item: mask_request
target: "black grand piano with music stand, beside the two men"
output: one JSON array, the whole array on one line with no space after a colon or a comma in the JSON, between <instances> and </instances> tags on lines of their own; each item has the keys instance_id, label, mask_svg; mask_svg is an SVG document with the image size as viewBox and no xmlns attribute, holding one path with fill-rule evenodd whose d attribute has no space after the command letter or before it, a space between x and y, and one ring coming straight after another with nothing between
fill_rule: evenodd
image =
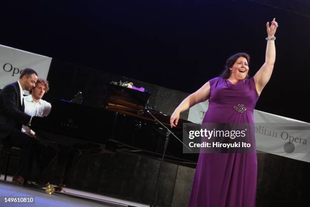
<instances>
[{"instance_id":1,"label":"black grand piano with music stand, beside the two men","mask_svg":"<svg viewBox=\"0 0 310 207\"><path fill-rule=\"evenodd\" d=\"M49 116L33 117L31 128L44 139L87 152L130 153L160 159L166 129L146 112L149 96L148 92L110 84L101 108L54 99ZM170 116L148 111L170 128ZM182 124L188 122L180 119L172 129L180 140ZM165 161L196 167L198 154L183 154L182 150L182 144L170 135Z\"/></svg>"}]
</instances>

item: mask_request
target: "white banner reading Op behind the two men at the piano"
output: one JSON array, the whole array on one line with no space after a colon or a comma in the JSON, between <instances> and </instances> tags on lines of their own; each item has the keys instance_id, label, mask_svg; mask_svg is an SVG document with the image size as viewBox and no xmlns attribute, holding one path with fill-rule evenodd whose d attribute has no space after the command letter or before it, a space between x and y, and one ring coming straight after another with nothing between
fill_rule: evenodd
<instances>
[{"instance_id":1,"label":"white banner reading Op behind the two men at the piano","mask_svg":"<svg viewBox=\"0 0 310 207\"><path fill-rule=\"evenodd\" d=\"M0 45L0 89L18 80L26 67L46 79L52 58Z\"/></svg>"}]
</instances>

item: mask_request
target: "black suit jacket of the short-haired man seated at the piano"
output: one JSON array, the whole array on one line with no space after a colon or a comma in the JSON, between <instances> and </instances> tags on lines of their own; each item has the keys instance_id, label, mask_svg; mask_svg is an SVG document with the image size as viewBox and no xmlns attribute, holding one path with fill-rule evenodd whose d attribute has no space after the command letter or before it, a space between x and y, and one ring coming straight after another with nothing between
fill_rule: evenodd
<instances>
[{"instance_id":1,"label":"black suit jacket of the short-haired man seated at the piano","mask_svg":"<svg viewBox=\"0 0 310 207\"><path fill-rule=\"evenodd\" d=\"M22 124L28 125L30 119L21 104L18 82L6 85L0 91L0 142L12 130L21 130Z\"/></svg>"}]
</instances>

